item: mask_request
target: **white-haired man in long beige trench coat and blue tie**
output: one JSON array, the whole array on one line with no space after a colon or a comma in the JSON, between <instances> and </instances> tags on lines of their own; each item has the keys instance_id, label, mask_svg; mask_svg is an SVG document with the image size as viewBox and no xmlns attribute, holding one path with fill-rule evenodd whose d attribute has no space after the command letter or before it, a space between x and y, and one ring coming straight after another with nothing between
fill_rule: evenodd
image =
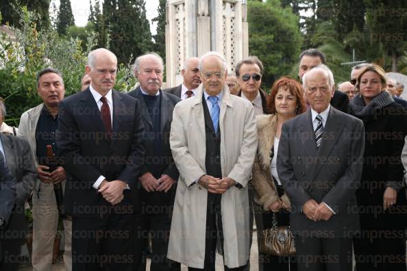
<instances>
[{"instance_id":1,"label":"white-haired man in long beige trench coat and blue tie","mask_svg":"<svg viewBox=\"0 0 407 271\"><path fill-rule=\"evenodd\" d=\"M199 60L202 83L173 111L170 144L180 171L168 258L188 270L214 270L217 242L225 270L249 259L247 182L257 147L254 108L231 95L222 55Z\"/></svg>"}]
</instances>

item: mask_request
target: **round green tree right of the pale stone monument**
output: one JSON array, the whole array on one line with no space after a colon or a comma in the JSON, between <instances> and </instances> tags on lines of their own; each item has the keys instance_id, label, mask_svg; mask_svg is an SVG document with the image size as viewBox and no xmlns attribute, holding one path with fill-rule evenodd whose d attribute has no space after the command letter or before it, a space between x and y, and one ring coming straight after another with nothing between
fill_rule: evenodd
<instances>
[{"instance_id":1,"label":"round green tree right of the pale stone monument","mask_svg":"<svg viewBox=\"0 0 407 271\"><path fill-rule=\"evenodd\" d=\"M291 8L282 8L277 0L249 1L247 8L249 54L262 61L262 88L269 90L297 62L301 46L298 16Z\"/></svg>"}]
</instances>

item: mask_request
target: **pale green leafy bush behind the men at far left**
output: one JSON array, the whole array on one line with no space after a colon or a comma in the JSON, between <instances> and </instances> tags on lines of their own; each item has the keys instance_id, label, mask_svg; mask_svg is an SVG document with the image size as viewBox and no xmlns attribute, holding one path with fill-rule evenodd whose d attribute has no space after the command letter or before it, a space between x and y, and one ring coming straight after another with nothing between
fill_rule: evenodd
<instances>
[{"instance_id":1,"label":"pale green leafy bush behind the men at far left","mask_svg":"<svg viewBox=\"0 0 407 271\"><path fill-rule=\"evenodd\" d=\"M36 74L42 68L52 66L62 72L65 96L80 89L80 79L84 73L86 58L95 47L95 34L86 38L86 49L82 49L79 39L60 36L55 29L36 30L36 16L27 8L18 10L21 16L21 29L16 32L16 43L8 38L0 38L0 96L5 99L8 109L6 122L18 126L18 120L25 110L42 101L36 91ZM116 79L117 90L130 90L135 79L130 77L129 64L121 64Z\"/></svg>"}]
</instances>

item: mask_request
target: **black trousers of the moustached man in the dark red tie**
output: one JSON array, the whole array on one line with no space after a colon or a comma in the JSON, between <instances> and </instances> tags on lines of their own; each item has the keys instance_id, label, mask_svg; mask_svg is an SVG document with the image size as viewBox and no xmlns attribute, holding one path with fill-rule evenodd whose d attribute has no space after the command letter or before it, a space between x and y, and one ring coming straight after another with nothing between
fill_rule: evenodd
<instances>
[{"instance_id":1,"label":"black trousers of the moustached man in the dark red tie","mask_svg":"<svg viewBox=\"0 0 407 271\"><path fill-rule=\"evenodd\" d=\"M128 210L103 219L72 218L73 271L132 270L133 215Z\"/></svg>"}]
</instances>

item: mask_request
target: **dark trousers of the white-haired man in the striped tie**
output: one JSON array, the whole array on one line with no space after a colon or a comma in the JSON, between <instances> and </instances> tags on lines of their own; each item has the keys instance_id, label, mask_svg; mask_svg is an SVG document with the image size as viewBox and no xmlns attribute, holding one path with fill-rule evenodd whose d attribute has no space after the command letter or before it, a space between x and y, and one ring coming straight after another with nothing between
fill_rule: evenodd
<instances>
[{"instance_id":1,"label":"dark trousers of the white-haired man in the striped tie","mask_svg":"<svg viewBox=\"0 0 407 271\"><path fill-rule=\"evenodd\" d=\"M352 270L351 238L295 236L295 249L299 271Z\"/></svg>"}]
</instances>

